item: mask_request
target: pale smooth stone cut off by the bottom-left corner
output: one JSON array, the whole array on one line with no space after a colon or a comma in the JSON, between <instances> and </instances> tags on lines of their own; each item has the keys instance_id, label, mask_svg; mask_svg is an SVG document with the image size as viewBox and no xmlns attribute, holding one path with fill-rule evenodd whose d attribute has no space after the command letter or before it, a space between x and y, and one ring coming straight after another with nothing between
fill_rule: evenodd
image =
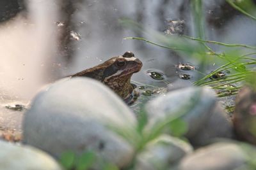
<instances>
[{"instance_id":1,"label":"pale smooth stone cut off by the bottom-left corner","mask_svg":"<svg viewBox=\"0 0 256 170\"><path fill-rule=\"evenodd\" d=\"M31 146L0 140L0 169L4 170L61 170L56 160Z\"/></svg>"}]
</instances>

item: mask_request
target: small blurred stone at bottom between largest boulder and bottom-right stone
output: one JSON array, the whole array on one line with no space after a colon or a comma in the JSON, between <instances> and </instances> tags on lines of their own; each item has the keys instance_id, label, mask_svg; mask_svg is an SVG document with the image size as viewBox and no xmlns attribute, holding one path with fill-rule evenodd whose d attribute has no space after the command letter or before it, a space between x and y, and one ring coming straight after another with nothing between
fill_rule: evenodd
<instances>
[{"instance_id":1,"label":"small blurred stone at bottom between largest boulder and bottom-right stone","mask_svg":"<svg viewBox=\"0 0 256 170\"><path fill-rule=\"evenodd\" d=\"M172 164L177 164L182 157L192 152L192 146L185 141L163 134L148 143L138 154L135 169L166 169Z\"/></svg>"}]
</instances>

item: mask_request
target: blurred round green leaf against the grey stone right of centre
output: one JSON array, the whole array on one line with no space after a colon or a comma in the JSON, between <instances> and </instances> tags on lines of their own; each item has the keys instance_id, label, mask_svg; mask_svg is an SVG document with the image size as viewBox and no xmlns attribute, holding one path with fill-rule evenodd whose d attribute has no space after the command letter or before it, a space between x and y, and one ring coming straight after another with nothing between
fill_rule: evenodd
<instances>
[{"instance_id":1,"label":"blurred round green leaf against the grey stone right of centre","mask_svg":"<svg viewBox=\"0 0 256 170\"><path fill-rule=\"evenodd\" d=\"M178 118L172 121L170 129L172 136L180 137L188 132L188 124L184 122L184 120Z\"/></svg>"}]
</instances>

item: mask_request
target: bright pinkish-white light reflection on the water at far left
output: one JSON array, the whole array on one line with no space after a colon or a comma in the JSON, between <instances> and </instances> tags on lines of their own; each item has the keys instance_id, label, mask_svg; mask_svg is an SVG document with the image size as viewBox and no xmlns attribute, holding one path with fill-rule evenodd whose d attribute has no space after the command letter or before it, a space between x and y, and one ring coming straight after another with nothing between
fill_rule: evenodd
<instances>
[{"instance_id":1,"label":"bright pinkish-white light reflection on the water at far left","mask_svg":"<svg viewBox=\"0 0 256 170\"><path fill-rule=\"evenodd\" d=\"M5 106L28 104L49 81L45 73L51 70L57 51L54 21L58 20L58 6L52 1L29 2L26 17L20 13L0 25L0 127L8 129L20 129L24 111Z\"/></svg>"}]
</instances>

